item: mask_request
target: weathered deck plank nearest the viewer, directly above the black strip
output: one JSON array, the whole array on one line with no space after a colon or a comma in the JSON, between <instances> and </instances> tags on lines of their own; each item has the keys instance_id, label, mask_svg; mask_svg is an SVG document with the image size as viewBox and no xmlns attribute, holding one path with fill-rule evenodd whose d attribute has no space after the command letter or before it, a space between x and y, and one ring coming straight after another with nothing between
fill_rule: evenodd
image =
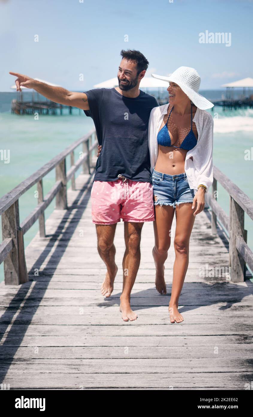
<instances>
[{"instance_id":1,"label":"weathered deck plank nearest the viewer, directly above the black strip","mask_svg":"<svg viewBox=\"0 0 253 417\"><path fill-rule=\"evenodd\" d=\"M1 374L0 374L1 377ZM177 373L128 373L128 374L6 374L2 383L11 389L84 389L84 388L152 388L196 389L203 387L244 389L251 384L250 372L177 372Z\"/></svg>"}]
</instances>

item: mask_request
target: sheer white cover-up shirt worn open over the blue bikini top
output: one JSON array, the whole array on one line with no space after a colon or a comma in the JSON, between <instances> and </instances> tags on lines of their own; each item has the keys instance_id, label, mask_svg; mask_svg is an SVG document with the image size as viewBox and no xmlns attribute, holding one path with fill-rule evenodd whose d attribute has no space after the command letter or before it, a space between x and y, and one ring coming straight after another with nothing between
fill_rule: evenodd
<instances>
[{"instance_id":1,"label":"sheer white cover-up shirt worn open over the blue bikini top","mask_svg":"<svg viewBox=\"0 0 253 417\"><path fill-rule=\"evenodd\" d=\"M149 116L149 154L151 172L158 157L157 133L161 127L169 104L154 107ZM184 171L194 194L198 185L204 184L206 192L213 183L213 118L211 113L197 107L193 122L196 124L198 141L196 146L186 153ZM193 161L190 159L192 156Z\"/></svg>"}]
</instances>

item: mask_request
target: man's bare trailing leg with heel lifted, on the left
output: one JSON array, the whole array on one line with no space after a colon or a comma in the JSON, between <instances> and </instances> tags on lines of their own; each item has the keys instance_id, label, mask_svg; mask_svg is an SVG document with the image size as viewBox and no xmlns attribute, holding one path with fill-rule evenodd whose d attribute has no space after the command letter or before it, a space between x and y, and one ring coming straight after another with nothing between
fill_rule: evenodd
<instances>
[{"instance_id":1,"label":"man's bare trailing leg with heel lifted, on the left","mask_svg":"<svg viewBox=\"0 0 253 417\"><path fill-rule=\"evenodd\" d=\"M116 226L117 223L96 224L97 250L107 266L107 273L101 285L101 294L105 297L109 297L112 294L114 279L118 271L118 267L115 264L116 249L113 244Z\"/></svg>"}]
</instances>

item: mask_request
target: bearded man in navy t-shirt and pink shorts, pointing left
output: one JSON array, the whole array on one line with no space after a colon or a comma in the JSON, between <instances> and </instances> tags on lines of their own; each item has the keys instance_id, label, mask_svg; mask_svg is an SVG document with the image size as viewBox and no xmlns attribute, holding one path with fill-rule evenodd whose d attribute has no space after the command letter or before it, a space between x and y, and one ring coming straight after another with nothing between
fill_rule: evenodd
<instances>
[{"instance_id":1,"label":"bearded man in navy t-shirt and pink shorts, pointing left","mask_svg":"<svg viewBox=\"0 0 253 417\"><path fill-rule=\"evenodd\" d=\"M131 309L130 294L140 264L141 229L145 221L154 221L148 123L152 108L159 104L139 90L148 60L136 50L122 50L121 56L116 88L75 93L26 75L10 74L18 77L17 91L21 91L20 85L33 88L56 103L81 108L94 121L102 150L91 190L92 221L96 224L98 252L107 266L101 293L109 297L113 291L118 270L113 242L117 222L122 219L126 250L120 311L124 321L133 321L137 315Z\"/></svg>"}]
</instances>

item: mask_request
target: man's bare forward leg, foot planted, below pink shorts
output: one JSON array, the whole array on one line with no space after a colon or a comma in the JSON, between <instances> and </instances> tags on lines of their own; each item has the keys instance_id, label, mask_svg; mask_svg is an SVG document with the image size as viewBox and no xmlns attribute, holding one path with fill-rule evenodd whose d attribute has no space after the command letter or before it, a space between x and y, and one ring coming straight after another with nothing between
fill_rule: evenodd
<instances>
[{"instance_id":1,"label":"man's bare forward leg, foot planted, below pink shorts","mask_svg":"<svg viewBox=\"0 0 253 417\"><path fill-rule=\"evenodd\" d=\"M137 319L137 314L132 311L130 306L131 289L139 269L141 260L141 229L143 223L124 222L124 237L126 251L124 254L123 267L123 290L120 296L120 311L124 322L132 322Z\"/></svg>"}]
</instances>

